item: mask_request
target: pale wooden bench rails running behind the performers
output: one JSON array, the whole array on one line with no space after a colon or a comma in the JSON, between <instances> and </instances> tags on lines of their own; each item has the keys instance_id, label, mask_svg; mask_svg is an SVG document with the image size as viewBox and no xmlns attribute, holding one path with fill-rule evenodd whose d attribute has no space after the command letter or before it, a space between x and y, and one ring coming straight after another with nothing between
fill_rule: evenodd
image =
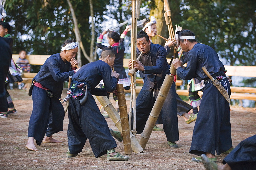
<instances>
[{"instance_id":1,"label":"pale wooden bench rails running behind the performers","mask_svg":"<svg viewBox=\"0 0 256 170\"><path fill-rule=\"evenodd\" d=\"M28 55L27 59L31 65L43 65L45 60L50 55ZM19 58L19 55L14 54L13 60L16 61ZM130 59L124 59L124 67L128 67L128 61ZM167 62L170 62L170 59L167 59ZM256 77L256 66L225 66L227 69L226 75L228 76L242 76L242 77ZM24 73L23 82L31 83L32 79L37 73ZM136 79L136 93L139 93L143 84L142 79ZM176 86L181 86L183 81L177 80ZM29 86L28 86L29 87ZM129 93L130 90L125 90L125 92ZM178 95L188 96L188 90L180 90L177 89ZM199 96L201 93L198 93ZM253 87L233 87L231 86L231 99L247 99L256 101L256 88Z\"/></svg>"}]
</instances>

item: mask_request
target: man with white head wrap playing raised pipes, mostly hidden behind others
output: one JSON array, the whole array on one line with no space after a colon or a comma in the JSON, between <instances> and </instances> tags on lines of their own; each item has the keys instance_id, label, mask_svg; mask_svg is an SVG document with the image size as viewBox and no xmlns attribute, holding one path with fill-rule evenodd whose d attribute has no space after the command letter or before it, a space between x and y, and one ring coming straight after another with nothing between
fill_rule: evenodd
<instances>
[{"instance_id":1,"label":"man with white head wrap playing raised pipes, mostly hidden behind others","mask_svg":"<svg viewBox=\"0 0 256 170\"><path fill-rule=\"evenodd\" d=\"M150 42L153 44L152 42L152 37L156 36L157 33L157 27L156 27L156 18L154 16L151 16L150 21L147 19L144 23L143 23L143 31L145 31L149 37ZM169 40L165 42L164 48L165 48L165 53L166 55L169 54L170 52L170 47L175 47L176 45L176 40ZM139 71L141 77L145 77L144 74L142 74L142 71ZM192 109L192 107L186 103L185 101L183 101L178 94L176 94L177 97L177 114L179 116L183 116L185 121L188 121L189 123L193 122L196 120L196 116L190 117L188 112L189 110ZM162 113L160 113L161 115ZM191 114L192 115L192 114ZM157 119L156 124L162 124L162 119L161 116L159 116L159 118ZM157 127L156 125L154 126L153 130L155 131L163 131L163 129Z\"/></svg>"}]
</instances>

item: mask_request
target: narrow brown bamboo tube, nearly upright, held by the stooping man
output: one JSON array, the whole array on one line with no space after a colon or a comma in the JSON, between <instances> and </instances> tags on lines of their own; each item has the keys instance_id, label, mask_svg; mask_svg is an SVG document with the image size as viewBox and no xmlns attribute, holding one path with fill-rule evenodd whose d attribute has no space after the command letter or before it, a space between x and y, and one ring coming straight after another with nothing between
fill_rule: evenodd
<instances>
[{"instance_id":1,"label":"narrow brown bamboo tube, nearly upright, held by the stooping man","mask_svg":"<svg viewBox=\"0 0 256 170\"><path fill-rule=\"evenodd\" d=\"M128 123L128 113L127 113L127 106L126 106L123 84L118 84L116 86L116 90L117 90L118 106L120 110L120 119L121 119L122 134L123 134L123 141L124 141L123 142L124 153L127 155L131 155L132 147L131 147L130 127Z\"/></svg>"}]
</instances>

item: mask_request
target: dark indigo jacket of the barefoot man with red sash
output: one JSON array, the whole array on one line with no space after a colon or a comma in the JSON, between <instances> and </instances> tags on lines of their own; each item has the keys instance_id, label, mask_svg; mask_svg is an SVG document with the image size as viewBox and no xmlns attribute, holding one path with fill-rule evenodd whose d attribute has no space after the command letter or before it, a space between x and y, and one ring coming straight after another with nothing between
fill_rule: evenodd
<instances>
[{"instance_id":1,"label":"dark indigo jacket of the barefoot man with red sash","mask_svg":"<svg viewBox=\"0 0 256 170\"><path fill-rule=\"evenodd\" d=\"M57 53L46 59L33 80L49 88L57 98L60 98L63 82L68 81L69 76L72 76L74 73L70 62L64 62L60 57L60 53Z\"/></svg>"}]
</instances>

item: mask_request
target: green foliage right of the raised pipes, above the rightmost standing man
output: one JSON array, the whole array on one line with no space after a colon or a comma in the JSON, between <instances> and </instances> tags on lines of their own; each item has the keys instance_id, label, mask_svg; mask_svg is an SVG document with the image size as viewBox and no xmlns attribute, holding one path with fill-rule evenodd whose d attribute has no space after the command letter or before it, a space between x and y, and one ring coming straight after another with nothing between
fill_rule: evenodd
<instances>
[{"instance_id":1,"label":"green foliage right of the raised pipes, above the rightmost standing man","mask_svg":"<svg viewBox=\"0 0 256 170\"><path fill-rule=\"evenodd\" d=\"M255 2L250 0L181 1L183 29L214 48L230 65L255 65ZM254 19L253 19L254 18Z\"/></svg>"}]
</instances>

